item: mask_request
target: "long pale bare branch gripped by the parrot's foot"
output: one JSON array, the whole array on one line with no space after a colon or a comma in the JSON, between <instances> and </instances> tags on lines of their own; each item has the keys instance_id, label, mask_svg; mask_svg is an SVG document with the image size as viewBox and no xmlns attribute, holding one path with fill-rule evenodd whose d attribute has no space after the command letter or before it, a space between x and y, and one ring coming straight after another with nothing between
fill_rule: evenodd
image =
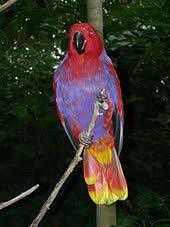
<instances>
[{"instance_id":1,"label":"long pale bare branch gripped by the parrot's foot","mask_svg":"<svg viewBox=\"0 0 170 227\"><path fill-rule=\"evenodd\" d=\"M88 136L90 136L90 134L91 134L91 132L92 132L94 126L95 126L96 120L97 120L98 116L100 115L100 112L99 112L100 108L103 108L104 110L107 110L107 103L105 102L106 98L107 98L107 93L106 93L106 90L103 89L97 95L97 100L96 100L96 102L94 104L93 116L91 118L88 130L87 130L87 135ZM32 224L29 227L37 227L38 226L38 224L40 223L40 221L44 217L44 215L47 212L47 210L49 210L50 205L52 204L52 202L56 198L56 196L59 193L59 191L60 191L61 187L63 186L64 182L67 180L67 178L69 177L71 172L74 170L75 166L82 160L81 154L83 152L84 147L85 147L85 145L83 145L83 144L79 145L79 149L77 150L73 160L71 161L71 163L67 167L65 173L60 178L58 183L55 185L55 187L54 187L53 191L51 192L50 196L48 197L47 201L44 203L44 205L42 206L42 208L39 211L38 215L35 217L34 221L32 222Z\"/></svg>"}]
</instances>

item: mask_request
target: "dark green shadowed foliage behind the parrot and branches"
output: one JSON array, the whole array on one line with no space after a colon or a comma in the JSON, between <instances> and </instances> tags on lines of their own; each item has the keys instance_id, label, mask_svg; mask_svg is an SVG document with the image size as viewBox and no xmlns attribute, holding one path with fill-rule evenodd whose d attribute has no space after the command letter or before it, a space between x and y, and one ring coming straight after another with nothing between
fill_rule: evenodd
<instances>
[{"instance_id":1,"label":"dark green shadowed foliage behind the parrot and branches","mask_svg":"<svg viewBox=\"0 0 170 227\"><path fill-rule=\"evenodd\" d=\"M120 227L170 226L169 9L168 0L103 2L105 47L125 108L120 158L129 197L117 203ZM79 21L87 21L84 0L18 0L0 14L0 201L40 184L0 212L0 227L28 226L74 156L53 105L52 78L68 29ZM82 163L40 226L81 225L95 226Z\"/></svg>"}]
</instances>

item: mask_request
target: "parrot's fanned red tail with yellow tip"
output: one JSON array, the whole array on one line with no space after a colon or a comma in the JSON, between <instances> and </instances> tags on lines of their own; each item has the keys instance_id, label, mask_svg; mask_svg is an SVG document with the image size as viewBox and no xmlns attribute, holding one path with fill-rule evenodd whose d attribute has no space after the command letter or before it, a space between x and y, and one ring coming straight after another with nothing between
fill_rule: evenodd
<instances>
[{"instance_id":1,"label":"parrot's fanned red tail with yellow tip","mask_svg":"<svg viewBox=\"0 0 170 227\"><path fill-rule=\"evenodd\" d=\"M106 147L105 147L106 148ZM84 178L88 192L96 204L112 204L128 196L126 180L115 149L84 151Z\"/></svg>"}]
</instances>

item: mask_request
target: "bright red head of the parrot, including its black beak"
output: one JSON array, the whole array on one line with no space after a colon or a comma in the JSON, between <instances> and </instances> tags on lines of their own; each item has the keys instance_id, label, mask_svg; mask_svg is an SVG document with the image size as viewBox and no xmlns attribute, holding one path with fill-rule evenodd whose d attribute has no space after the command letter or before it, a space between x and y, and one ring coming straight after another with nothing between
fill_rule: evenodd
<instances>
[{"instance_id":1,"label":"bright red head of the parrot, including its black beak","mask_svg":"<svg viewBox=\"0 0 170 227\"><path fill-rule=\"evenodd\" d=\"M99 56L103 44L97 31L88 23L73 24L69 32L68 52L74 56Z\"/></svg>"}]
</instances>

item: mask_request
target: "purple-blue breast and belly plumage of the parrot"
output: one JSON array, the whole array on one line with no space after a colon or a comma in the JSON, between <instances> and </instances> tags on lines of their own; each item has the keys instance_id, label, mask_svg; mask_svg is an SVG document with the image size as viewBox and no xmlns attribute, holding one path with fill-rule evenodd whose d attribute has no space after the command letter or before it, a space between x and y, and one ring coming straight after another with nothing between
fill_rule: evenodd
<instances>
[{"instance_id":1,"label":"purple-blue breast and belly plumage of the parrot","mask_svg":"<svg viewBox=\"0 0 170 227\"><path fill-rule=\"evenodd\" d=\"M99 71L95 76L84 78L81 81L72 81L63 75L62 67L57 80L57 105L67 119L71 130L74 130L73 120L82 130L87 130L90 123L96 94L102 89L108 92L110 103L114 106L118 102L117 88L113 76L106 65L101 65L104 73ZM66 73L66 71L64 71ZM70 76L71 77L71 76ZM93 130L94 141L106 134L103 127L104 116L99 116Z\"/></svg>"}]
</instances>

